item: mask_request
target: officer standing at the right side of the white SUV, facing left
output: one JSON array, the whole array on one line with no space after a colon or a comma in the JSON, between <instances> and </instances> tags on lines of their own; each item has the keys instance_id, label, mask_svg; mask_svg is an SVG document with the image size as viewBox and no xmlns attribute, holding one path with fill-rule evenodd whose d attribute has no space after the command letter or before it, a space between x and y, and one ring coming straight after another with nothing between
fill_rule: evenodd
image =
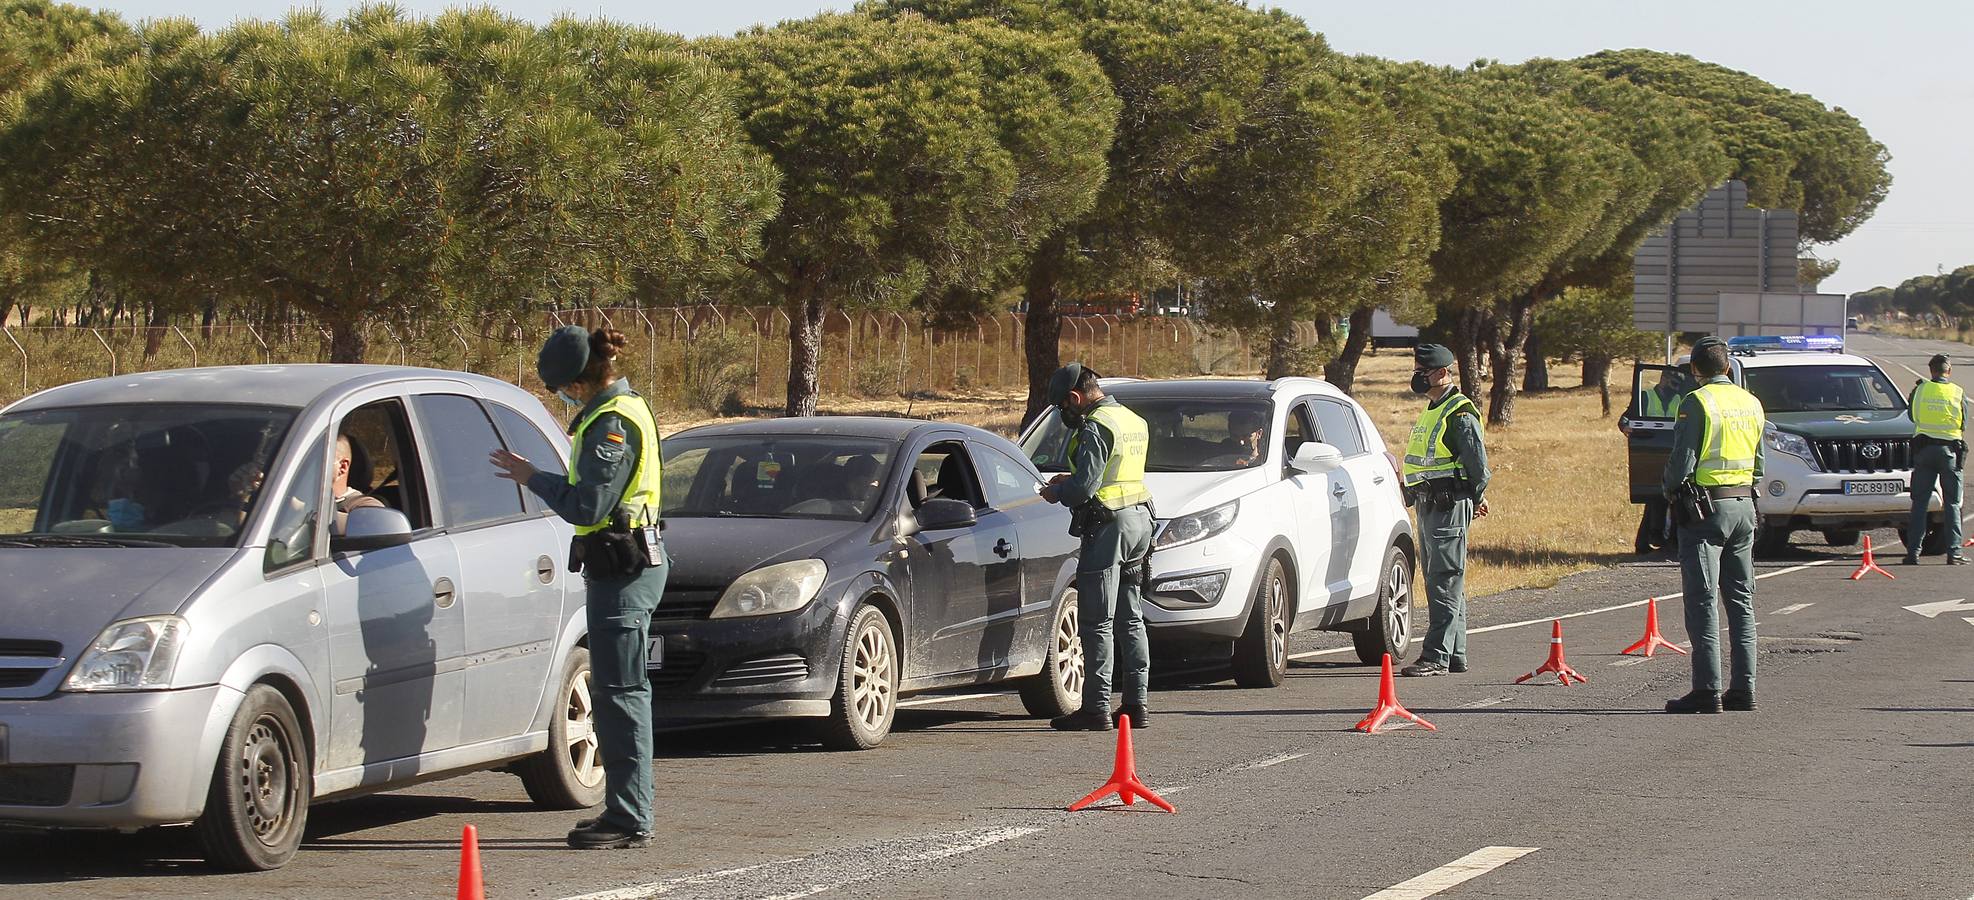
<instances>
[{"instance_id":1,"label":"officer standing at the right side of the white SUV, facing left","mask_svg":"<svg viewBox=\"0 0 1974 900\"><path fill-rule=\"evenodd\" d=\"M1486 517L1486 446L1480 411L1455 385L1453 351L1419 343L1411 355L1411 393L1427 403L1400 468L1419 507L1425 645L1402 675L1457 675L1467 671L1467 527Z\"/></svg>"}]
</instances>

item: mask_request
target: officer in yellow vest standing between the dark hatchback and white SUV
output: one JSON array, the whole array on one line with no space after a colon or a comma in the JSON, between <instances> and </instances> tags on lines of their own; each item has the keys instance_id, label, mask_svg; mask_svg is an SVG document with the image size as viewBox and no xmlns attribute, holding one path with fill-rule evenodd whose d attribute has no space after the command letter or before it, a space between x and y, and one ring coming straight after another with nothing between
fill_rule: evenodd
<instances>
[{"instance_id":1,"label":"officer in yellow vest standing between the dark hatchback and white SUV","mask_svg":"<svg viewBox=\"0 0 1974 900\"><path fill-rule=\"evenodd\" d=\"M1145 420L1103 395L1098 373L1070 363L1048 379L1048 403L1070 428L1070 472L1040 489L1072 509L1070 533L1084 539L1076 562L1076 616L1084 641L1084 705L1048 724L1109 730L1111 669L1123 683L1131 728L1151 724L1151 643L1145 636L1145 580L1151 564L1151 491L1145 489ZM1115 653L1111 639L1115 638Z\"/></svg>"}]
</instances>

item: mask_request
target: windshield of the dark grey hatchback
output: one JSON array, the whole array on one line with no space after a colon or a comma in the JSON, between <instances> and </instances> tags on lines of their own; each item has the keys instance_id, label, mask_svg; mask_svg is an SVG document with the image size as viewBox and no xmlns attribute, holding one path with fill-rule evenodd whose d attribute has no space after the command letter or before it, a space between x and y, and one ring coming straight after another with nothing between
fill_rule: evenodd
<instances>
[{"instance_id":1,"label":"windshield of the dark grey hatchback","mask_svg":"<svg viewBox=\"0 0 1974 900\"><path fill-rule=\"evenodd\" d=\"M663 442L663 515L847 519L876 511L898 444L876 438L707 434Z\"/></svg>"}]
</instances>

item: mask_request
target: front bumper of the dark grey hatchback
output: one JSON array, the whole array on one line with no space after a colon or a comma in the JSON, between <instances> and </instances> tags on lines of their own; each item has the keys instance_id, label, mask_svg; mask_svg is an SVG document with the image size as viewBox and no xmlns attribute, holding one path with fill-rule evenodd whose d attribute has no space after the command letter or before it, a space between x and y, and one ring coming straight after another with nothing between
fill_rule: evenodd
<instances>
[{"instance_id":1,"label":"front bumper of the dark grey hatchback","mask_svg":"<svg viewBox=\"0 0 1974 900\"><path fill-rule=\"evenodd\" d=\"M665 661L651 671L661 718L825 716L843 661L833 604L780 616L653 620Z\"/></svg>"}]
</instances>

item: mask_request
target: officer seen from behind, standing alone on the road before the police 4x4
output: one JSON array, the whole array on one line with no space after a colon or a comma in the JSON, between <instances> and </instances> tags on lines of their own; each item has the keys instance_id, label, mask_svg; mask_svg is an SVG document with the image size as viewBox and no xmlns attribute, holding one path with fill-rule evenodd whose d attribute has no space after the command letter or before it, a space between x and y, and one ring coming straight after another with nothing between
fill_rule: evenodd
<instances>
[{"instance_id":1,"label":"officer seen from behind, standing alone on the road before the police 4x4","mask_svg":"<svg viewBox=\"0 0 1974 900\"><path fill-rule=\"evenodd\" d=\"M1755 482L1767 416L1755 395L1727 379L1727 341L1694 341L1700 387L1680 403L1662 489L1680 519L1680 578L1686 638L1694 641L1694 689L1666 701L1666 712L1755 709ZM1704 521L1684 515L1682 491L1704 491ZM1727 604L1731 683L1721 695L1719 604Z\"/></svg>"}]
</instances>

